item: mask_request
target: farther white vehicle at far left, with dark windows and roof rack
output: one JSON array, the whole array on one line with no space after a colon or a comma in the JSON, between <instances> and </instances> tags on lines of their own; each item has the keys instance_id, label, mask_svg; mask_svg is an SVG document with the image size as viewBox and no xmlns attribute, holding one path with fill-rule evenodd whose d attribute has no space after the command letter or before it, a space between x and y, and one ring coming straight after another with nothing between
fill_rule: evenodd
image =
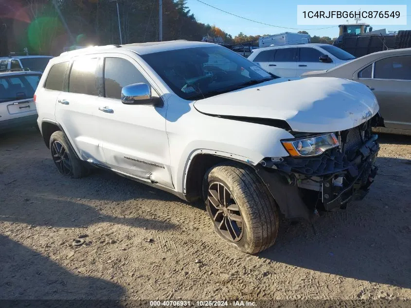
<instances>
[{"instance_id":1,"label":"farther white vehicle at far left, with dark windows and roof rack","mask_svg":"<svg viewBox=\"0 0 411 308\"><path fill-rule=\"evenodd\" d=\"M43 72L53 57L50 55L18 55L0 58L0 72L19 71L29 69L30 71Z\"/></svg>"}]
</instances>

